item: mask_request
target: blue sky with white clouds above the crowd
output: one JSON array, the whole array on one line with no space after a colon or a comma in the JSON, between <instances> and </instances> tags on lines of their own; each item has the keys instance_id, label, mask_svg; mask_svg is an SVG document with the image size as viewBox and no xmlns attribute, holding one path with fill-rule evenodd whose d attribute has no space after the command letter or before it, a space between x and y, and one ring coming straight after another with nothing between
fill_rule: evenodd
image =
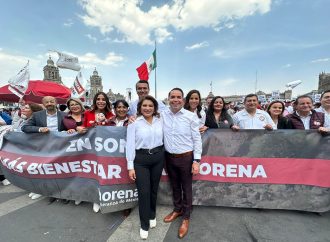
<instances>
[{"instance_id":1,"label":"blue sky with white clouds above the crowd","mask_svg":"<svg viewBox=\"0 0 330 242\"><path fill-rule=\"evenodd\" d=\"M0 8L0 84L30 60L31 79L59 50L89 78L126 93L157 41L157 96L173 87L202 96L317 89L330 72L329 0L11 0ZM256 75L257 73L257 75ZM61 70L71 86L76 72ZM149 80L154 94L154 75Z\"/></svg>"}]
</instances>

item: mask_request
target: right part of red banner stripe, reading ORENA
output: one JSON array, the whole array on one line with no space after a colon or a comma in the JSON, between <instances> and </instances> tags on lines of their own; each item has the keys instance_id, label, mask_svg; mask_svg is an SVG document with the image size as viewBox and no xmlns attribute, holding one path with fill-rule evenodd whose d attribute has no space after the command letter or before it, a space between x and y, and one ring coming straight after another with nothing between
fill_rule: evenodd
<instances>
[{"instance_id":1,"label":"right part of red banner stripe, reading ORENA","mask_svg":"<svg viewBox=\"0 0 330 242\"><path fill-rule=\"evenodd\" d=\"M330 187L329 174L329 160L203 156L194 180Z\"/></svg>"}]
</instances>

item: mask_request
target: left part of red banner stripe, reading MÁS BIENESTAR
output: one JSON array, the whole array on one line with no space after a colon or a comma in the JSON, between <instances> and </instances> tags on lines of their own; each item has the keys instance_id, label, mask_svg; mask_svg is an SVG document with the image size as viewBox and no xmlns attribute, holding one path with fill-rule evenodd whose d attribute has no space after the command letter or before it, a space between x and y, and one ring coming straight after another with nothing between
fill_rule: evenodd
<instances>
[{"instance_id":1,"label":"left part of red banner stripe, reading M\u00c1S BIENESTAR","mask_svg":"<svg viewBox=\"0 0 330 242\"><path fill-rule=\"evenodd\" d=\"M1 151L1 163L10 172L29 178L91 178L101 185L132 183L125 157L82 154L61 157L37 157Z\"/></svg>"}]
</instances>

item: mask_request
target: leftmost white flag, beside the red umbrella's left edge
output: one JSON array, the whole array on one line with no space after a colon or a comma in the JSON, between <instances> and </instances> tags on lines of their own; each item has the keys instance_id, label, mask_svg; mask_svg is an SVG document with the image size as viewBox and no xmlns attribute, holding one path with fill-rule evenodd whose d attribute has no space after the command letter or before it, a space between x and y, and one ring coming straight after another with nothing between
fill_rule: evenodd
<instances>
[{"instance_id":1,"label":"leftmost white flag, beside the red umbrella's left edge","mask_svg":"<svg viewBox=\"0 0 330 242\"><path fill-rule=\"evenodd\" d=\"M28 88L30 80L29 62L24 66L16 76L9 79L8 89L16 96L22 98Z\"/></svg>"}]
</instances>

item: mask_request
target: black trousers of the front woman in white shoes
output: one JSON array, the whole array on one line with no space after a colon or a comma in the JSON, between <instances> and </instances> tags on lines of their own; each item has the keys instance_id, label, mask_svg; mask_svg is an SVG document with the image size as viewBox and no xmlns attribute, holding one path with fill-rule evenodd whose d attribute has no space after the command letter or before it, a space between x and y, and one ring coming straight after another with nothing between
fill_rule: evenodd
<instances>
[{"instance_id":1,"label":"black trousers of the front woman in white shoes","mask_svg":"<svg viewBox=\"0 0 330 242\"><path fill-rule=\"evenodd\" d=\"M149 220L156 218L157 191L164 158L164 150L162 150L152 155L137 152L134 159L140 222L141 228L146 231L149 230Z\"/></svg>"}]
</instances>

